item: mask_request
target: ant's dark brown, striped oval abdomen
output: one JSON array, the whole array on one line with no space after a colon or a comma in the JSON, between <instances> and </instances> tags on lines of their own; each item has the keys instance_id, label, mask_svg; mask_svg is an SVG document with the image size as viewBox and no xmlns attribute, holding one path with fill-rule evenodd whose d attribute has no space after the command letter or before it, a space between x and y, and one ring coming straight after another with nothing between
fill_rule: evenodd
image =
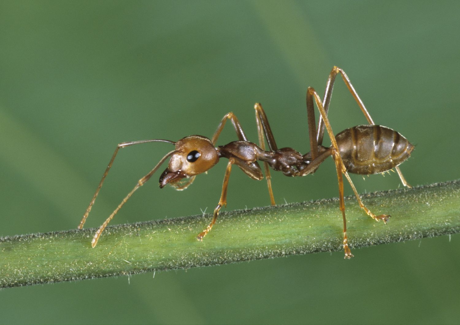
<instances>
[{"instance_id":1,"label":"ant's dark brown, striped oval abdomen","mask_svg":"<svg viewBox=\"0 0 460 325\"><path fill-rule=\"evenodd\" d=\"M348 172L377 174L408 159L414 145L397 131L381 125L358 125L335 136Z\"/></svg>"}]
</instances>

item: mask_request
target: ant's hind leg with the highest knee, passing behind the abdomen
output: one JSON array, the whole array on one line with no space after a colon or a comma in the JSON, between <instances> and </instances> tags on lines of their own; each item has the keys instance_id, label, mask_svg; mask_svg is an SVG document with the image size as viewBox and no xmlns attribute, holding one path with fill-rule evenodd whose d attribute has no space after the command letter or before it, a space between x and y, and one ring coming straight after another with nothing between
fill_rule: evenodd
<instances>
[{"instance_id":1,"label":"ant's hind leg with the highest knee, passing behind the abdomen","mask_svg":"<svg viewBox=\"0 0 460 325\"><path fill-rule=\"evenodd\" d=\"M335 77L336 77L337 74L341 75L342 79L345 82L345 85L347 86L348 90L351 92L351 95L353 96L353 98L355 98L356 102L358 103L359 108L361 108L362 113L364 114L364 116L368 120L368 123L371 124L371 125L375 125L374 120L372 120L371 115L369 114L368 110L364 106L364 103L362 103L362 100L359 97L358 93L356 92L355 88L351 84L350 78L348 78L348 76L346 75L344 70L342 70L339 67L335 67L335 66L334 66L334 68L332 68L332 71L329 74L328 82L326 84L326 90L324 92L324 98L323 98L323 101L322 101L322 104L323 104L323 107L324 107L324 111L326 112L326 115L328 114L329 103L331 101L331 96L332 96L332 89L334 87L334 81L335 81ZM317 142L320 145L322 144L323 135L324 135L324 122L323 122L322 117L320 116L319 122L318 122L318 132L316 134ZM398 176L401 179L401 182L403 183L403 185L405 187L412 188L412 186L410 186L410 184L404 178L403 173L401 172L401 169L399 169L398 166L395 169L396 169L396 171L398 173Z\"/></svg>"}]
</instances>

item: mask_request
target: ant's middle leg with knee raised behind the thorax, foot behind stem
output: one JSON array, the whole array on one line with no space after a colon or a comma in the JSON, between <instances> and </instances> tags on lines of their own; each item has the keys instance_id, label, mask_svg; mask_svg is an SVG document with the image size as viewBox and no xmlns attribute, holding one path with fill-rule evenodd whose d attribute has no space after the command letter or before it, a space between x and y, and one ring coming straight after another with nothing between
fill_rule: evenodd
<instances>
[{"instance_id":1,"label":"ant's middle leg with knee raised behind the thorax, foot behind stem","mask_svg":"<svg viewBox=\"0 0 460 325\"><path fill-rule=\"evenodd\" d=\"M265 139L267 140L270 150L278 150L278 148L276 147L275 138L273 137L273 133L271 132L270 124L268 123L268 119L265 115L265 111L262 108L262 105L260 103L256 103L254 105L254 109L256 110L257 134L259 135L260 148L265 151L265 135ZM276 205L275 198L273 197L273 190L271 188L270 167L266 161L264 161L264 170L265 178L267 179L268 194L270 195L270 203L271 205Z\"/></svg>"}]
</instances>

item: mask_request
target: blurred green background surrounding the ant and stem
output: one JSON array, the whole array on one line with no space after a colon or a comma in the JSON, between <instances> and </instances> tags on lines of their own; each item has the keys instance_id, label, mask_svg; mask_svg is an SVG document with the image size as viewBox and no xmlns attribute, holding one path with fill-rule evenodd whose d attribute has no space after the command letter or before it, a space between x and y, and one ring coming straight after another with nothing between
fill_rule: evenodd
<instances>
[{"instance_id":1,"label":"blurred green background surrounding the ant and stem","mask_svg":"<svg viewBox=\"0 0 460 325\"><path fill-rule=\"evenodd\" d=\"M255 102L279 147L309 151L305 91L323 93L334 65L376 123L416 145L401 166L408 182L457 179L459 12L458 1L0 1L0 236L76 228L117 143L211 137L229 111L256 142ZM335 133L366 123L337 81ZM235 139L228 127L219 143ZM122 150L86 227L170 149ZM183 192L155 176L113 223L212 211L225 165ZM352 178L361 193L402 186L395 173ZM338 194L332 160L273 186L278 203ZM228 210L269 203L265 182L235 170ZM0 291L0 323L458 323L459 252L457 234L351 261L322 253L12 288Z\"/></svg>"}]
</instances>

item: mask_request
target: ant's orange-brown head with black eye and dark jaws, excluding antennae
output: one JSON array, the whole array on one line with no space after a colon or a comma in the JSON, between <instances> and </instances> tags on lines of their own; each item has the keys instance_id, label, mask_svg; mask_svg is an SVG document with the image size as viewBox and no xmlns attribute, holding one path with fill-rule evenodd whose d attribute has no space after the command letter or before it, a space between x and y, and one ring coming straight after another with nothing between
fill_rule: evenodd
<instances>
[{"instance_id":1,"label":"ant's orange-brown head with black eye and dark jaws, excluding antennae","mask_svg":"<svg viewBox=\"0 0 460 325\"><path fill-rule=\"evenodd\" d=\"M185 177L201 174L219 161L219 153L207 137L190 136L176 142L168 168L160 176L160 188L179 186Z\"/></svg>"}]
</instances>

